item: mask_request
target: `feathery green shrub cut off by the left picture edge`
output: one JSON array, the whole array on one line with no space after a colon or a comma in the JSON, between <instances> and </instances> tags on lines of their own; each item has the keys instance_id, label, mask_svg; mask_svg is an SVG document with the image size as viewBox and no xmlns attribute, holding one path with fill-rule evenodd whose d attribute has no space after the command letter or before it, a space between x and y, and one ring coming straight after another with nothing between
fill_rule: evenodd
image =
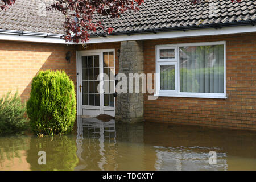
<instances>
[{"instance_id":1,"label":"feathery green shrub cut off by the left picture edge","mask_svg":"<svg viewBox=\"0 0 256 182\"><path fill-rule=\"evenodd\" d=\"M0 134L9 135L26 130L27 119L24 117L26 106L22 104L18 91L13 97L10 91L0 98Z\"/></svg>"}]
</instances>

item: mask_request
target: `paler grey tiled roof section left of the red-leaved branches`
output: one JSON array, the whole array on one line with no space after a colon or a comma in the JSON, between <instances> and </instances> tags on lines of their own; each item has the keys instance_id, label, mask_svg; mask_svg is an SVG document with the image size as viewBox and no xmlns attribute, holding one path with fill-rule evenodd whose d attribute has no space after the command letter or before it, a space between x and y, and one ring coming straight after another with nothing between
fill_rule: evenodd
<instances>
[{"instance_id":1,"label":"paler grey tiled roof section left of the red-leaved branches","mask_svg":"<svg viewBox=\"0 0 256 182\"><path fill-rule=\"evenodd\" d=\"M49 0L16 0L6 11L0 10L0 29L63 34L64 15L59 11L44 11ZM45 16L44 16L45 15Z\"/></svg>"}]
</instances>

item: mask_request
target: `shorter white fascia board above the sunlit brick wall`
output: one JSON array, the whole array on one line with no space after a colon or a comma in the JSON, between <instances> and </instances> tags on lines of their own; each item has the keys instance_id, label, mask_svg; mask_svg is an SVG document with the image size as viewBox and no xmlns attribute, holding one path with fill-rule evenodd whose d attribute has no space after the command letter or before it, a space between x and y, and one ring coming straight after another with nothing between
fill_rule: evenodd
<instances>
[{"instance_id":1,"label":"shorter white fascia board above the sunlit brick wall","mask_svg":"<svg viewBox=\"0 0 256 182\"><path fill-rule=\"evenodd\" d=\"M76 44L73 42L65 42L60 37L36 36L36 35L16 35L16 34L0 34L0 40L13 40L21 42L38 42L38 43L56 43L56 44Z\"/></svg>"}]
</instances>

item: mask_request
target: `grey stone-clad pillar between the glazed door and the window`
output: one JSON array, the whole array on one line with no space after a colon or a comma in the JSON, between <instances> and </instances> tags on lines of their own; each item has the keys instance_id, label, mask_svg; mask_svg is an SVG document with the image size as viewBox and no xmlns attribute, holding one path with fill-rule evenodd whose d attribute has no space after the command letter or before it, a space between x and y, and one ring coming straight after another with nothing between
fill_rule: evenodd
<instances>
[{"instance_id":1,"label":"grey stone-clad pillar between the glazed door and the window","mask_svg":"<svg viewBox=\"0 0 256 182\"><path fill-rule=\"evenodd\" d=\"M142 41L121 42L119 56L119 73L125 73L127 81L129 73L141 74L144 72L144 52ZM140 84L141 86L141 84ZM141 122L144 120L144 96L143 93L117 94L115 104L115 121L119 122Z\"/></svg>"}]
</instances>

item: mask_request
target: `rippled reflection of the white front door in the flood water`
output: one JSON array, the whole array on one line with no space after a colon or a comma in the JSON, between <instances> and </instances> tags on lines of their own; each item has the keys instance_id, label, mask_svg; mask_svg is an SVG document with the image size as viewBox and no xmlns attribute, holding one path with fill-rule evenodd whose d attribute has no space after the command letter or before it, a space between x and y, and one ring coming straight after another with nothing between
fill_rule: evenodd
<instances>
[{"instance_id":1,"label":"rippled reflection of the white front door in the flood water","mask_svg":"<svg viewBox=\"0 0 256 182\"><path fill-rule=\"evenodd\" d=\"M102 122L97 118L79 117L77 119L77 156L82 164L75 169L86 169L90 165L90 169L115 170L117 163L111 162L117 154L115 138L113 119ZM114 168L112 166L108 169L108 164L114 164Z\"/></svg>"}]
</instances>

